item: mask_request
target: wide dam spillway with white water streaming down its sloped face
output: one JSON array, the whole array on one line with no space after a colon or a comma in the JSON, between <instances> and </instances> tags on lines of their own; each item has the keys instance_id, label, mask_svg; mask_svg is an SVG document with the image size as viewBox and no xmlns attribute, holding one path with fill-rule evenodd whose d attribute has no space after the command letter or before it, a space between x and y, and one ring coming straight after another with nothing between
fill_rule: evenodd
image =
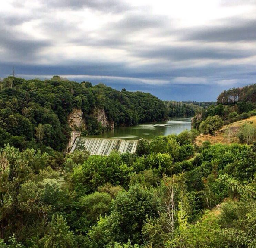
<instances>
[{"instance_id":1,"label":"wide dam spillway with white water streaming down its sloped face","mask_svg":"<svg viewBox=\"0 0 256 248\"><path fill-rule=\"evenodd\" d=\"M120 140L120 139L103 139L103 138L76 138L70 152L77 147L84 146L91 155L109 155L113 150L121 154L136 152L138 140Z\"/></svg>"}]
</instances>

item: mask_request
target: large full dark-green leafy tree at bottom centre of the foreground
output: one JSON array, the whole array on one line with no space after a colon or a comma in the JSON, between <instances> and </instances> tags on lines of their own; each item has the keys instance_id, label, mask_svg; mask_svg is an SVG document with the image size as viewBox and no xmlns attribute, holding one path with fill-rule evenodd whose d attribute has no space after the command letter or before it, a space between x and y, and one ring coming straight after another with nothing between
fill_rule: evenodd
<instances>
[{"instance_id":1,"label":"large full dark-green leafy tree at bottom centre of the foreground","mask_svg":"<svg viewBox=\"0 0 256 248\"><path fill-rule=\"evenodd\" d=\"M157 201L152 190L139 185L121 190L113 201L111 214L100 218L89 231L95 247L113 242L142 244L142 226L148 217L157 215Z\"/></svg>"}]
</instances>

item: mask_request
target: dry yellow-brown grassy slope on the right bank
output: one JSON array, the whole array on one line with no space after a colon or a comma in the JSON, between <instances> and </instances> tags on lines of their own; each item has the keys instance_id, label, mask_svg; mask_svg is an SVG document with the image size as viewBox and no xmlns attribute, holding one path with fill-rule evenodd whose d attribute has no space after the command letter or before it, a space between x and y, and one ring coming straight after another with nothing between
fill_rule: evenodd
<instances>
[{"instance_id":1,"label":"dry yellow-brown grassy slope on the right bank","mask_svg":"<svg viewBox=\"0 0 256 248\"><path fill-rule=\"evenodd\" d=\"M240 127L245 123L253 123L256 126L256 116L252 116L248 119L244 119L241 121L233 122L229 125L223 126L220 130L216 131L214 136L209 134L204 135L200 134L196 137L195 143L200 146L204 141L210 141L211 144L216 143L233 143L238 142L238 138L236 137L237 132L239 132Z\"/></svg>"}]
</instances>

